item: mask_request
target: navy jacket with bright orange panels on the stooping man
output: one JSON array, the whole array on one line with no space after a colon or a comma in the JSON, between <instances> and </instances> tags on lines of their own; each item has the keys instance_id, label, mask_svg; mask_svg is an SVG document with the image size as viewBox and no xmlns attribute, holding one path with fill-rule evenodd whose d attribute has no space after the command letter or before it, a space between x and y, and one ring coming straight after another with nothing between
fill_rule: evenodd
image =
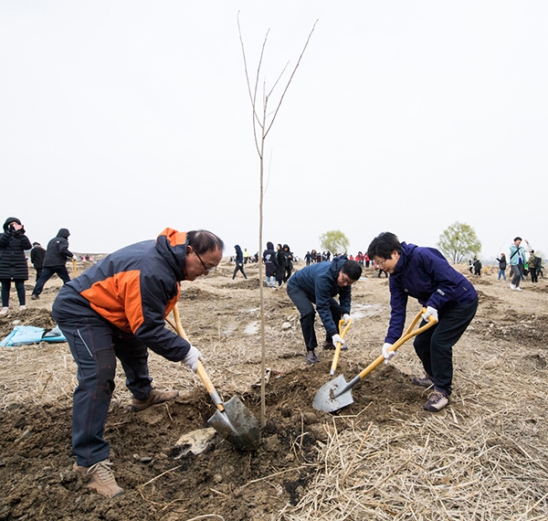
<instances>
[{"instance_id":1,"label":"navy jacket with bright orange panels on the stooping man","mask_svg":"<svg viewBox=\"0 0 548 521\"><path fill-rule=\"evenodd\" d=\"M155 241L114 251L58 294L79 293L102 318L132 333L158 355L178 362L190 344L168 330L164 319L179 300L187 246L186 233L164 229ZM53 309L55 313L55 303ZM78 313L75 307L74 314Z\"/></svg>"}]
</instances>

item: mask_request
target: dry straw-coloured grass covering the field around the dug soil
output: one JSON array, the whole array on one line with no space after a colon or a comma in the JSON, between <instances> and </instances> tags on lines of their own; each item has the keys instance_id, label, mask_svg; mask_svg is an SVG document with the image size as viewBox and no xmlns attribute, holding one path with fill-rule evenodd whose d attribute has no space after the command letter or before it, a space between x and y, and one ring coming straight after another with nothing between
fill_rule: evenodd
<instances>
[{"instance_id":1,"label":"dry straw-coloured grass covering the field around the dug soil","mask_svg":"<svg viewBox=\"0 0 548 521\"><path fill-rule=\"evenodd\" d=\"M253 269L248 273L252 276ZM236 292L227 286L228 275L229 266L216 278L197 282L205 298L183 298L180 307L186 333L203 350L212 380L233 393L248 389L258 377L259 338L244 332L246 325L259 320L258 292ZM451 407L437 414L417 410L412 418L387 411L383 422L366 414L334 416L332 429L326 429L328 441L318 445L316 471L300 502L286 505L271 519L548 518L547 346L536 335L547 328L548 292L543 280L535 291L531 284L523 287L517 294L498 284L494 275L482 279L479 314L454 354ZM354 361L357 373L382 345L388 290L384 279L370 279L359 282L354 292L354 303L374 303L348 335L360 352ZM298 317L285 292L269 292L267 299L268 365L282 372L299 367L304 358ZM520 331L536 333L516 340L508 332L520 321L511 319L521 314L525 327L527 306L534 307L536 322ZM409 314L415 313L411 306ZM292 327L282 329L288 321ZM531 338L537 340L532 344ZM400 350L394 363L406 374L418 369L410 346ZM76 385L76 366L65 344L4 348L0 366L1 409L21 401L69 400ZM188 369L154 354L150 368L161 388L178 388L184 394L201 386ZM114 399L129 402L121 371L116 383ZM391 392L389 382L385 392ZM310 473L311 467L307 470Z\"/></svg>"}]
</instances>

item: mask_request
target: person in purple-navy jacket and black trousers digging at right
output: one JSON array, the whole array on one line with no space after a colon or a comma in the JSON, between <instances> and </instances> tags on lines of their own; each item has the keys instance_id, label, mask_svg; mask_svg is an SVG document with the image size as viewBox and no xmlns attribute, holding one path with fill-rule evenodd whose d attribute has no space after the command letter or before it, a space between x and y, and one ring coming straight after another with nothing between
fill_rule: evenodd
<instances>
[{"instance_id":1,"label":"person in purple-navy jacket and black trousers digging at right","mask_svg":"<svg viewBox=\"0 0 548 521\"><path fill-rule=\"evenodd\" d=\"M449 403L453 346L476 314L478 292L438 250L400 242L394 233L383 232L375 237L367 253L390 274L392 312L383 346L383 355L387 360L395 355L389 349L404 331L408 297L416 298L427 308L421 326L426 324L430 315L437 319L437 324L415 337L416 355L423 364L426 376L412 379L418 386L434 386L424 409L437 412Z\"/></svg>"}]
</instances>

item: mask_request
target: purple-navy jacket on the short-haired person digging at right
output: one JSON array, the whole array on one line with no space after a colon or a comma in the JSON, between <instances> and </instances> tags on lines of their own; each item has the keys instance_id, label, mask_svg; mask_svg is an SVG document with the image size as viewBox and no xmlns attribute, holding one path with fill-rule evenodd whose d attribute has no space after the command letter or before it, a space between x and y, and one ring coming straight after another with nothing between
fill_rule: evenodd
<instances>
[{"instance_id":1,"label":"purple-navy jacket on the short-haired person digging at right","mask_svg":"<svg viewBox=\"0 0 548 521\"><path fill-rule=\"evenodd\" d=\"M439 317L456 305L472 303L478 292L434 248L402 242L402 253L390 275L390 325L385 342L394 344L404 332L407 297L437 309Z\"/></svg>"}]
</instances>

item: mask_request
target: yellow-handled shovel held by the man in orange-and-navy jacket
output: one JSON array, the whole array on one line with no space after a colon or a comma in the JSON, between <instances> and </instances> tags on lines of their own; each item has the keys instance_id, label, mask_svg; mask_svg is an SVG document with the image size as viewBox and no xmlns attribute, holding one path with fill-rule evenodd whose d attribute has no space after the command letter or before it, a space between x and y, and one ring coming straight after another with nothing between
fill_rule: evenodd
<instances>
[{"instance_id":1,"label":"yellow-handled shovel held by the man in orange-and-navy jacket","mask_svg":"<svg viewBox=\"0 0 548 521\"><path fill-rule=\"evenodd\" d=\"M179 308L176 304L174 307L174 319L177 333L183 336L185 340L188 340L188 337L184 334L181 317L179 316ZM221 436L227 438L239 451L256 451L258 449L258 442L260 441L260 432L255 417L236 396L223 403L200 360L198 360L196 373L204 383L209 396L217 408L215 414L207 420L207 423Z\"/></svg>"}]
</instances>

